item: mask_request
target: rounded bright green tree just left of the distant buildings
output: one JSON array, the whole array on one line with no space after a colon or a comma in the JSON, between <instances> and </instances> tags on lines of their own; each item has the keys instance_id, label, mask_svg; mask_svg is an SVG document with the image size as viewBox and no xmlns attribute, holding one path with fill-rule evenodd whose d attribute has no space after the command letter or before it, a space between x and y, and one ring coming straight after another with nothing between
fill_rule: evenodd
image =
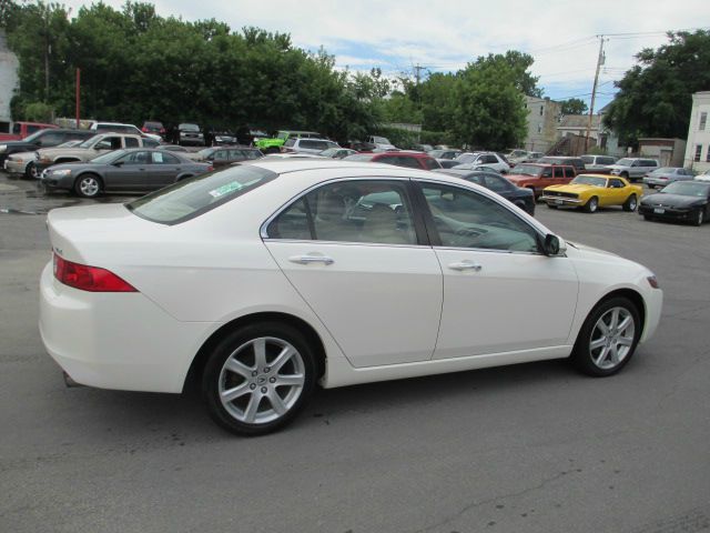
<instances>
[{"instance_id":1,"label":"rounded bright green tree just left of the distant buildings","mask_svg":"<svg viewBox=\"0 0 710 533\"><path fill-rule=\"evenodd\" d=\"M504 150L525 138L527 112L518 72L510 66L479 58L468 63L456 86L454 131L473 148Z\"/></svg>"}]
</instances>

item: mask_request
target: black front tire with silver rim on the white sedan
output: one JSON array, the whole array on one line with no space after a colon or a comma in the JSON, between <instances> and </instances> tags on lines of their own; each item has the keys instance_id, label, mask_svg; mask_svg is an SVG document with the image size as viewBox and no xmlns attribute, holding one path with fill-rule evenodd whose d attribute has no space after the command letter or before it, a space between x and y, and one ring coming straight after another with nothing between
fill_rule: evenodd
<instances>
[{"instance_id":1,"label":"black front tire with silver rim on the white sedan","mask_svg":"<svg viewBox=\"0 0 710 533\"><path fill-rule=\"evenodd\" d=\"M628 346L628 351L620 356L620 359L615 363L612 358L610 356L612 353L611 349L607 349L607 355L602 356L605 345L591 349L592 339L595 335L599 335L601 330L597 328L597 323L600 321L602 316L606 318L608 313L613 313L615 309L623 309L628 316L631 318L633 322L633 332L630 340L630 345ZM619 325L622 325L619 324ZM612 375L619 372L630 360L636 351L636 346L639 342L639 338L641 335L641 319L639 318L639 312L636 309L636 305L627 298L623 296L613 296L608 300L601 301L595 309L591 310L589 316L581 326L579 331L579 335L577 336L577 342L575 343L575 348L572 350L572 354L570 355L570 360L572 364L582 373L587 375L591 375L595 378L604 378L607 375ZM628 333L628 330L626 330ZM623 331L621 332L621 338ZM629 335L626 335L627 338ZM600 340L597 336L597 342ZM613 353L617 353L616 350L619 346L617 345ZM601 359L600 359L601 358Z\"/></svg>"}]
</instances>

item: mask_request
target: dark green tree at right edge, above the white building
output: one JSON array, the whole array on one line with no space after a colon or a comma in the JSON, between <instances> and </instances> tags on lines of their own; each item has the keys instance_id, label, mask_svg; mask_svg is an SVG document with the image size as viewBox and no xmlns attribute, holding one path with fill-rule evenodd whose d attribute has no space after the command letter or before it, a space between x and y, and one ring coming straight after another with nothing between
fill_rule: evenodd
<instances>
[{"instance_id":1,"label":"dark green tree at right edge, above the white building","mask_svg":"<svg viewBox=\"0 0 710 533\"><path fill-rule=\"evenodd\" d=\"M619 92L604 120L621 142L635 144L639 137L684 139L692 93L710 88L710 32L669 32L668 39L657 50L641 50L636 56L639 64L616 82Z\"/></svg>"}]
</instances>

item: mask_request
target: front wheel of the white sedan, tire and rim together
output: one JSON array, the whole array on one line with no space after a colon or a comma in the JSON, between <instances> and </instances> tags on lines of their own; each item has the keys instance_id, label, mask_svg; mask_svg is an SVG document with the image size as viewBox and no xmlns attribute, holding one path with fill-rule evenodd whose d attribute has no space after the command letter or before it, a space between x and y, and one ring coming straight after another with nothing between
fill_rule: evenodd
<instances>
[{"instance_id":1,"label":"front wheel of the white sedan, tire and rim together","mask_svg":"<svg viewBox=\"0 0 710 533\"><path fill-rule=\"evenodd\" d=\"M641 334L641 320L633 303L616 296L597 305L585 321L571 360L584 373L611 375L626 365Z\"/></svg>"}]
</instances>

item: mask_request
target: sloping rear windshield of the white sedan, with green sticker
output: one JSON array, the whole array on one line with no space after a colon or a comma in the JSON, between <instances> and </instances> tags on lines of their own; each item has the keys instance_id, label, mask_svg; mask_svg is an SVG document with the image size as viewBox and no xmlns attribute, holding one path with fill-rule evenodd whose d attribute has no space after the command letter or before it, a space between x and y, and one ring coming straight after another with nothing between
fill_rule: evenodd
<instances>
[{"instance_id":1,"label":"sloping rear windshield of the white sedan, with green sticker","mask_svg":"<svg viewBox=\"0 0 710 533\"><path fill-rule=\"evenodd\" d=\"M142 219L179 224L272 181L278 174L260 167L243 165L180 181L126 204Z\"/></svg>"}]
</instances>

